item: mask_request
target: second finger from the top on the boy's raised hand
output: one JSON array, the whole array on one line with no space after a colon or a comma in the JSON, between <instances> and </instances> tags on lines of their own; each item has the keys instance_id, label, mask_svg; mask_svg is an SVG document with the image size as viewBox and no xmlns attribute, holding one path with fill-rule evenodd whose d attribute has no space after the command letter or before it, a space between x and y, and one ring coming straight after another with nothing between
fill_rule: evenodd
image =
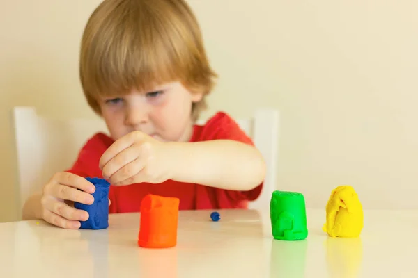
<instances>
[{"instance_id":1,"label":"second finger from the top on the boy's raised hand","mask_svg":"<svg viewBox=\"0 0 418 278\"><path fill-rule=\"evenodd\" d=\"M135 159L138 158L139 153L141 152L141 147L131 146L127 149L123 149L122 152L116 154L110 161L104 165L102 168L102 175L104 179L108 179L111 183L109 177L111 177L115 172L121 170L121 168Z\"/></svg>"}]
</instances>

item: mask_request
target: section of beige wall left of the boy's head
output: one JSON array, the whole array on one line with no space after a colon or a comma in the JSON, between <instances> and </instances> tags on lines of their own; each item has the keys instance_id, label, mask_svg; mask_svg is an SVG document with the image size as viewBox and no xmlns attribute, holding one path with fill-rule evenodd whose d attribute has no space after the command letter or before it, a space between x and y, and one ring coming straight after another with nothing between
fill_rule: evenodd
<instances>
[{"instance_id":1,"label":"section of beige wall left of the boy's head","mask_svg":"<svg viewBox=\"0 0 418 278\"><path fill-rule=\"evenodd\" d=\"M0 1L0 221L15 219L11 109L36 106L52 117L93 117L77 63L84 24L98 0Z\"/></svg>"}]
</instances>

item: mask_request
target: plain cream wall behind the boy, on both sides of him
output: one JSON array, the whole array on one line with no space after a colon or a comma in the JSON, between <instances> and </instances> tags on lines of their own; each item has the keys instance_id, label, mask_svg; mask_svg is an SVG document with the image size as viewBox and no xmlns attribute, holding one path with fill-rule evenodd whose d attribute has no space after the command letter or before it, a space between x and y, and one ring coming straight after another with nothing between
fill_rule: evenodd
<instances>
[{"instance_id":1,"label":"plain cream wall behind the boy, on both sides of him","mask_svg":"<svg viewBox=\"0 0 418 278\"><path fill-rule=\"evenodd\" d=\"M13 106L95 117L77 67L98 3L0 1L0 221L16 218ZM220 75L203 117L278 108L278 188L304 193L309 207L341 184L365 207L417 207L417 1L189 3Z\"/></svg>"}]
</instances>

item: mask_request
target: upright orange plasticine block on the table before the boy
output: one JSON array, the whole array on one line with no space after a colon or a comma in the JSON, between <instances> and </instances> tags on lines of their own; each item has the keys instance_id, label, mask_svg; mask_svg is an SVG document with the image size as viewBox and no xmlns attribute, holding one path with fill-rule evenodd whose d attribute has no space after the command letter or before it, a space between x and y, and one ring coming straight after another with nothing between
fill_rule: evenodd
<instances>
[{"instance_id":1,"label":"upright orange plasticine block on the table before the boy","mask_svg":"<svg viewBox=\"0 0 418 278\"><path fill-rule=\"evenodd\" d=\"M142 199L139 246L145 248L176 246L179 203L178 198L151 194Z\"/></svg>"}]
</instances>

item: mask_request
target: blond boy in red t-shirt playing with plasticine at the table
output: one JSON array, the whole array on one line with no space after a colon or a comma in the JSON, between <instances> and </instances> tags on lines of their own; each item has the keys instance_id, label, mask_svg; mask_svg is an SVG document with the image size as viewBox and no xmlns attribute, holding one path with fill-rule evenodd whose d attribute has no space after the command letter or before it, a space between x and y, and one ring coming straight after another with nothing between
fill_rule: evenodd
<instances>
[{"instance_id":1,"label":"blond boy in red t-shirt playing with plasticine at the table","mask_svg":"<svg viewBox=\"0 0 418 278\"><path fill-rule=\"evenodd\" d=\"M138 212L148 193L180 209L246 208L261 193L265 162L226 113L195 124L213 87L198 23L184 0L104 0L88 20L80 79L110 137L98 133L72 167L24 205L24 219L78 229L95 188L111 183L109 213Z\"/></svg>"}]
</instances>

